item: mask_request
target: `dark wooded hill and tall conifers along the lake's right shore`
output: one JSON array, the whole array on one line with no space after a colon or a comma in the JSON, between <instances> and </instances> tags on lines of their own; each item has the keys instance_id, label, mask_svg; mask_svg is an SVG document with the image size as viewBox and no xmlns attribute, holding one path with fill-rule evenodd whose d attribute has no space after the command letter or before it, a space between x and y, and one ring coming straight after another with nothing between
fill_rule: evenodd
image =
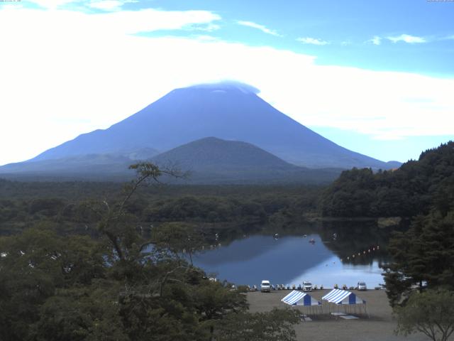
<instances>
[{"instance_id":1,"label":"dark wooded hill and tall conifers along the lake's right shore","mask_svg":"<svg viewBox=\"0 0 454 341\"><path fill-rule=\"evenodd\" d=\"M409 217L395 231L384 264L391 305L405 305L417 289L454 290L454 142L421 153L395 171L345 171L321 198L331 217ZM399 310L397 310L399 311Z\"/></svg>"}]
</instances>

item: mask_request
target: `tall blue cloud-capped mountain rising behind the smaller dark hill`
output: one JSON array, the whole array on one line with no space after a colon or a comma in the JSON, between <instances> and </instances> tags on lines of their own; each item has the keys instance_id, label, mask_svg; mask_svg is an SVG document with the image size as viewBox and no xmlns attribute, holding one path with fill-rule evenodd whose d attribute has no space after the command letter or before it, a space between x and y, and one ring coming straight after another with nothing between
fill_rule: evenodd
<instances>
[{"instance_id":1,"label":"tall blue cloud-capped mountain rising behind the smaller dark hill","mask_svg":"<svg viewBox=\"0 0 454 341\"><path fill-rule=\"evenodd\" d=\"M140 148L168 151L206 136L245 141L312 168L390 168L323 138L267 104L246 85L220 83L173 90L106 130L82 134L31 161Z\"/></svg>"}]
</instances>

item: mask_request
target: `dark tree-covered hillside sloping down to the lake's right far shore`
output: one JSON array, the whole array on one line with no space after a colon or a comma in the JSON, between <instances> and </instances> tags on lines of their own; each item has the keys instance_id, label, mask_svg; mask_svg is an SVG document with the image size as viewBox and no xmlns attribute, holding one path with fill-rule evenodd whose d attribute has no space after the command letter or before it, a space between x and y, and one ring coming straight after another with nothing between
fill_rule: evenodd
<instances>
[{"instance_id":1,"label":"dark tree-covered hillside sloping down to the lake's right far shore","mask_svg":"<svg viewBox=\"0 0 454 341\"><path fill-rule=\"evenodd\" d=\"M454 142L421 153L394 171L344 171L321 199L330 217L412 217L454 203Z\"/></svg>"}]
</instances>

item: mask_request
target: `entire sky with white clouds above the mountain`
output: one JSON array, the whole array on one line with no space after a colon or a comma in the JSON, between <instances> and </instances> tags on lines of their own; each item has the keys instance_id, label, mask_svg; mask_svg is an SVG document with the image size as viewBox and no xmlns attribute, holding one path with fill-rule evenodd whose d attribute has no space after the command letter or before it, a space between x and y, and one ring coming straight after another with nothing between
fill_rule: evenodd
<instances>
[{"instance_id":1,"label":"entire sky with white clouds above the mountain","mask_svg":"<svg viewBox=\"0 0 454 341\"><path fill-rule=\"evenodd\" d=\"M454 139L453 18L430 0L1 2L0 164L225 79L341 146L417 158Z\"/></svg>"}]
</instances>

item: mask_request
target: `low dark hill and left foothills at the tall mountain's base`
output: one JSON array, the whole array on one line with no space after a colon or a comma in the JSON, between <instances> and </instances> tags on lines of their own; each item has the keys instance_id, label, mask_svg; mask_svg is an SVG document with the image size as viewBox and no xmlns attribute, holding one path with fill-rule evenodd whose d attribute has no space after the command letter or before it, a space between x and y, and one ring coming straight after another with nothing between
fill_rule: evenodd
<instances>
[{"instance_id":1,"label":"low dark hill and left foothills at the tall mountain's base","mask_svg":"<svg viewBox=\"0 0 454 341\"><path fill-rule=\"evenodd\" d=\"M132 153L135 156L135 153ZM178 146L148 159L162 168L189 171L189 177L164 177L171 183L328 183L341 169L309 169L294 166L257 146L240 141L209 137ZM0 176L20 180L127 180L135 163L126 155L89 154L26 163L0 168Z\"/></svg>"}]
</instances>

